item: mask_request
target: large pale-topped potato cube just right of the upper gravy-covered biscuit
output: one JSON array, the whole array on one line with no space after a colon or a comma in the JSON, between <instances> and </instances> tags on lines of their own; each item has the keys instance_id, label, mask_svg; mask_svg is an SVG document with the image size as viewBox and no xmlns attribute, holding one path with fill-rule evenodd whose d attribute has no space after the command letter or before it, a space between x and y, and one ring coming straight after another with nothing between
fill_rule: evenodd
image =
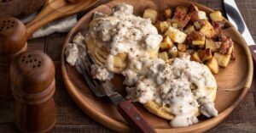
<instances>
[{"instance_id":1,"label":"large pale-topped potato cube just right of the upper gravy-covered biscuit","mask_svg":"<svg viewBox=\"0 0 256 133\"><path fill-rule=\"evenodd\" d=\"M183 43L187 37L181 30L177 30L171 26L166 30L165 36L170 36L172 41L177 43Z\"/></svg>"}]
</instances>

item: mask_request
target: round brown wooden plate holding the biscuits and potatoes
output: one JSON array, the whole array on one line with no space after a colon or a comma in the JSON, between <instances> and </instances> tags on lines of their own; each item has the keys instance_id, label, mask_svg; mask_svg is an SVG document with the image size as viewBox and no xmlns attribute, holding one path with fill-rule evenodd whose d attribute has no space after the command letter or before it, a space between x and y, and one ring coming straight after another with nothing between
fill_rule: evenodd
<instances>
[{"instance_id":1,"label":"round brown wooden plate holding the biscuits and potatoes","mask_svg":"<svg viewBox=\"0 0 256 133\"><path fill-rule=\"evenodd\" d=\"M111 8L117 3L129 3L134 6L134 14L142 16L145 8L155 8L158 11L163 11L168 7L176 7L177 5L191 4L190 1L185 0L117 0L110 3L101 5L90 13L84 15L79 20L78 24L70 30L67 35L66 41L62 48L61 55L61 69L62 75L67 86L67 91L73 97L73 100L84 110L85 114L88 114L92 119L102 125L107 126L112 130L119 132L131 132L129 126L125 120L119 115L115 106L108 100L107 97L98 98L95 97L90 89L86 86L84 79L81 75L69 64L65 62L64 51L68 42L73 40L78 32L82 34L86 33L92 14L95 11L99 11L105 14L112 12ZM201 4L195 3L201 10L206 11L208 14L212 12L212 9L207 8ZM229 22L228 22L229 23ZM230 25L230 23L229 23ZM220 69L219 74L215 75L218 83L218 92L216 99L216 108L218 109L218 117L205 119L200 117L200 122L196 125L183 127L183 128L172 128L169 125L169 121L161 119L154 114L148 113L142 105L137 104L137 108L148 120L150 125L153 125L157 132L202 132L211 129L213 126L218 125L224 118L226 118L237 105L241 102L242 98L245 97L251 82L253 79L253 63L251 53L247 47L246 42L242 39L241 35L232 26L226 30L231 38L236 42L236 60L230 61L228 68ZM226 90L226 91L225 91ZM228 90L228 91L227 91Z\"/></svg>"}]
</instances>

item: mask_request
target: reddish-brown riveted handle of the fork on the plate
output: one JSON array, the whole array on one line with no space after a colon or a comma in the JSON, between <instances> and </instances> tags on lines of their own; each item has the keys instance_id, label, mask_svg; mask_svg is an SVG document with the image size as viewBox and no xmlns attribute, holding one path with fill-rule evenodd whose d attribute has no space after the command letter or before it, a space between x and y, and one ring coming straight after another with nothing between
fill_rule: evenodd
<instances>
[{"instance_id":1,"label":"reddish-brown riveted handle of the fork on the plate","mask_svg":"<svg viewBox=\"0 0 256 133\"><path fill-rule=\"evenodd\" d=\"M129 125L140 133L156 133L130 100L118 104L118 111Z\"/></svg>"}]
</instances>

